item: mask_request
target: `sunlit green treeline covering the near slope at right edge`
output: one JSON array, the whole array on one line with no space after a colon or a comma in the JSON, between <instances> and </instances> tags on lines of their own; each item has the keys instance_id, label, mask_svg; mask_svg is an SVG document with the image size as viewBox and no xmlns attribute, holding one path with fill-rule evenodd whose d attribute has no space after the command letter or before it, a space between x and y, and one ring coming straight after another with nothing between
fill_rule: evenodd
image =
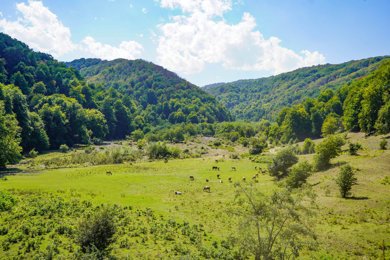
<instances>
[{"instance_id":1,"label":"sunlit green treeline covering the near slope at right edge","mask_svg":"<svg viewBox=\"0 0 390 260\"><path fill-rule=\"evenodd\" d=\"M270 142L295 143L343 131L390 132L390 61L370 75L316 99L283 108L265 135Z\"/></svg>"}]
</instances>

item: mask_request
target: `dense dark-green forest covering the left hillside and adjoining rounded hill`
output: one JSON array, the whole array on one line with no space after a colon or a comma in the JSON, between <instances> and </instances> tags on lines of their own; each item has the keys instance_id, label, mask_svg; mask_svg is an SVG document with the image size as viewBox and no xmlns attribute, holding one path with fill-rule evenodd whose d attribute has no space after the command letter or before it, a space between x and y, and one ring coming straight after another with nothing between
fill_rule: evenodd
<instances>
[{"instance_id":1,"label":"dense dark-green forest covering the left hillside and adjoining rounded hill","mask_svg":"<svg viewBox=\"0 0 390 260\"><path fill-rule=\"evenodd\" d=\"M215 121L233 120L211 95L150 62L103 63L108 78L128 65L126 88L117 81L87 83L77 69L0 34L1 160L20 151L124 139L158 125L203 123L208 129Z\"/></svg>"}]
</instances>

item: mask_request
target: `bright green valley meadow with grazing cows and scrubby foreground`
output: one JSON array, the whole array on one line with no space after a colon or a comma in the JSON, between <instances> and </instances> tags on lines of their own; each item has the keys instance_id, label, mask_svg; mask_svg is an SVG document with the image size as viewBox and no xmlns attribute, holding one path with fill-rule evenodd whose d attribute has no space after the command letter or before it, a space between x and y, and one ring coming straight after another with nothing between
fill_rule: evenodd
<instances>
[{"instance_id":1,"label":"bright green valley meadow with grazing cows and scrubby foreground","mask_svg":"<svg viewBox=\"0 0 390 260\"><path fill-rule=\"evenodd\" d=\"M300 259L383 259L383 252L384 259L390 259L390 152L375 149L379 137L350 134L348 140L361 142L364 149L351 156L347 145L343 146L330 169L316 172L308 179L318 194L318 248L303 250ZM48 245L56 248L53 259L73 258L78 247L74 243L78 221L102 205L114 205L119 212L119 229L112 244L112 253L119 259L252 259L253 256L238 251L238 245L223 246L238 229L238 219L224 211L239 206L234 182L248 184L258 173L254 167L264 169L267 165L252 163L248 158L232 159L228 153L225 158L217 154L211 149L208 157L170 159L167 163L139 160L60 169L54 169L54 165L39 169L39 165L30 163L11 168L19 172L5 176L7 180L0 181L0 190L13 194L18 202L13 210L0 215L2 226L8 229L8 233L1 233L0 226L0 259L44 259ZM71 155L52 152L39 155L35 161L61 156ZM311 161L312 156L299 157ZM342 199L335 179L346 163L354 167L359 185L352 187L352 197ZM212 170L213 166L220 170ZM232 166L236 171L232 171ZM112 175L107 175L107 170ZM190 175L194 180L190 180ZM275 177L260 173L253 185L269 193L279 188L277 183ZM203 191L206 185L210 192ZM175 191L182 195L175 195ZM24 215L20 213L40 200L41 206L63 201L69 210L63 209L63 213L53 213L51 217L28 210ZM40 235L23 231L26 222L38 221L34 220L36 217L41 222L53 223L45 225ZM59 230L61 225L70 226L69 232ZM154 231L153 227L158 225L166 230ZM171 237L167 238L167 234ZM40 240L34 242L38 237ZM27 242L28 239L33 242ZM28 243L35 246L26 250Z\"/></svg>"}]
</instances>

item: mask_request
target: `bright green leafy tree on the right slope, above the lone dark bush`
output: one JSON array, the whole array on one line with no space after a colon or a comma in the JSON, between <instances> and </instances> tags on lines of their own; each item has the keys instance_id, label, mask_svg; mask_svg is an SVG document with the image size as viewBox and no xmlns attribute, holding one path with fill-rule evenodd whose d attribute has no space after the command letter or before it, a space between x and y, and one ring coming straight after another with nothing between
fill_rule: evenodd
<instances>
[{"instance_id":1,"label":"bright green leafy tree on the right slope, above the lone dark bush","mask_svg":"<svg viewBox=\"0 0 390 260\"><path fill-rule=\"evenodd\" d=\"M326 169L330 166L330 160L339 156L341 146L345 144L345 135L333 135L318 143L313 157L314 168Z\"/></svg>"}]
</instances>

